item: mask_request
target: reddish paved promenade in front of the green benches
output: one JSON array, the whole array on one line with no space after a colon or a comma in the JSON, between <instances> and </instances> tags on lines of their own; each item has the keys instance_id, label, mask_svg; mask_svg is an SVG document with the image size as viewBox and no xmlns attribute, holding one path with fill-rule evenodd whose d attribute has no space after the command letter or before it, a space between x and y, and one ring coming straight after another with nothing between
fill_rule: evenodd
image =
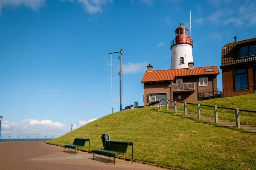
<instances>
[{"instance_id":1,"label":"reddish paved promenade in front of the green benches","mask_svg":"<svg viewBox=\"0 0 256 170\"><path fill-rule=\"evenodd\" d=\"M163 170L113 158L96 156L64 147L45 144L44 141L0 142L0 170Z\"/></svg>"}]
</instances>

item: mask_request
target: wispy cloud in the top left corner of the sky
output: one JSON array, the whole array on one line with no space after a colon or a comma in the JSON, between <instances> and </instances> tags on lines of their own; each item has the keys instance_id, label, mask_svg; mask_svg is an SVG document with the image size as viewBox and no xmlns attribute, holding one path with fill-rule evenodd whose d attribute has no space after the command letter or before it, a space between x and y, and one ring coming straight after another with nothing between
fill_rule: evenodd
<instances>
[{"instance_id":1,"label":"wispy cloud in the top left corner of the sky","mask_svg":"<svg viewBox=\"0 0 256 170\"><path fill-rule=\"evenodd\" d=\"M0 0L0 10L1 8L25 6L32 11L38 11L38 8L44 5L45 0Z\"/></svg>"}]
</instances>

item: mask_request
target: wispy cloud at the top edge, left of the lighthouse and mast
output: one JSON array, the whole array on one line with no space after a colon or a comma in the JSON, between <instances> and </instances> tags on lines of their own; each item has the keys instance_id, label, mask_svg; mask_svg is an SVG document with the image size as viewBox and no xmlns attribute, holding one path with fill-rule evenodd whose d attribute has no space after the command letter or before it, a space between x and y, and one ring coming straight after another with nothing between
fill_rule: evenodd
<instances>
[{"instance_id":1,"label":"wispy cloud at the top edge, left of the lighthouse and mast","mask_svg":"<svg viewBox=\"0 0 256 170\"><path fill-rule=\"evenodd\" d=\"M78 2L84 6L89 14L102 13L102 6L107 3L113 3L113 0L60 0L61 2Z\"/></svg>"}]
</instances>

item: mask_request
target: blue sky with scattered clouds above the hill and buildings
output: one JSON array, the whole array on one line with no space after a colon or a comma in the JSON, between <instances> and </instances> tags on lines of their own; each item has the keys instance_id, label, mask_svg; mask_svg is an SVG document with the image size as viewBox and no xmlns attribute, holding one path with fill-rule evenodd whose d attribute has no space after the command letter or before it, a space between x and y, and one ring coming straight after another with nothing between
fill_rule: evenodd
<instances>
[{"instance_id":1,"label":"blue sky with scattered clouds above the hill and buildings","mask_svg":"<svg viewBox=\"0 0 256 170\"><path fill-rule=\"evenodd\" d=\"M111 97L108 53L120 48L123 108L143 105L146 65L170 68L170 42L180 21L189 29L189 10L195 67L219 68L234 36L256 37L255 0L0 0L2 138L58 137L119 111L119 59Z\"/></svg>"}]
</instances>

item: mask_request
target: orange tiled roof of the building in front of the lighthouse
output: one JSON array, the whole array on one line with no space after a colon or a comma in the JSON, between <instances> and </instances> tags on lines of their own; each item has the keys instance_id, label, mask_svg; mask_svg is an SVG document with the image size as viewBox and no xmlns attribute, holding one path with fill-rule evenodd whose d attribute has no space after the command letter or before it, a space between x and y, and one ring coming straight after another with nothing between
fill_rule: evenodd
<instances>
[{"instance_id":1,"label":"orange tiled roof of the building in front of the lighthouse","mask_svg":"<svg viewBox=\"0 0 256 170\"><path fill-rule=\"evenodd\" d=\"M204 69L212 68L213 71L205 72ZM196 76L196 75L209 75L220 74L216 65L207 67L195 67L194 69L178 68L169 70L155 70L146 71L141 82L157 82L174 80L175 77L180 76Z\"/></svg>"}]
</instances>

